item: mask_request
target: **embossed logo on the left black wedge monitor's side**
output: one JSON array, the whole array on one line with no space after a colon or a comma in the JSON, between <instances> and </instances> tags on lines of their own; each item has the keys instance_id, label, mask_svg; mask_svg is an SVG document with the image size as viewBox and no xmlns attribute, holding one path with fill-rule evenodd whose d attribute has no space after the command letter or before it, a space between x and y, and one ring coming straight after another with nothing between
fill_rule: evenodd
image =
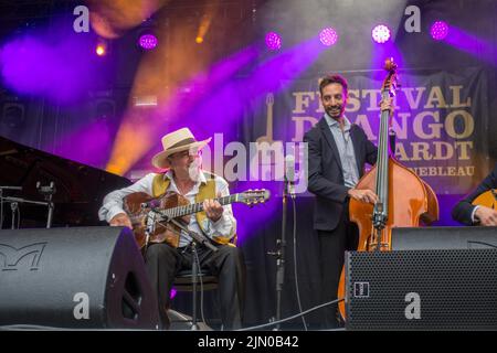
<instances>
[{"instance_id":1,"label":"embossed logo on the left black wedge monitor's side","mask_svg":"<svg viewBox=\"0 0 497 353\"><path fill-rule=\"evenodd\" d=\"M46 243L34 243L15 248L7 244L0 244L0 269L12 271L29 267L31 271L38 270L45 245Z\"/></svg>"}]
</instances>

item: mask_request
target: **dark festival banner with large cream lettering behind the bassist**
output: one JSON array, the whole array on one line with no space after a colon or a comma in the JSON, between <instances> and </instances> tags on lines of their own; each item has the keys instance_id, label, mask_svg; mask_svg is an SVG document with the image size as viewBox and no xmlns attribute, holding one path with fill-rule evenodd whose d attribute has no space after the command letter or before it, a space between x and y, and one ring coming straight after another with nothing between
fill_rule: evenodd
<instances>
[{"instance_id":1,"label":"dark festival banner with large cream lettering behind the bassist","mask_svg":"<svg viewBox=\"0 0 497 353\"><path fill-rule=\"evenodd\" d=\"M349 85L347 118L378 145L382 78L374 78L379 76L376 72L342 75ZM400 83L391 122L396 160L437 194L467 193L489 170L490 118L485 71L475 67L457 72L401 72ZM255 124L245 127L251 135L248 141L272 143L272 151L283 149L284 156L288 154L287 145L300 146L305 132L324 115L319 77L282 83L279 92L267 93L263 100L254 104ZM303 169L298 175L304 178L304 153L295 156L296 164ZM260 160L260 167L263 164ZM273 176L281 178L278 172Z\"/></svg>"}]
</instances>

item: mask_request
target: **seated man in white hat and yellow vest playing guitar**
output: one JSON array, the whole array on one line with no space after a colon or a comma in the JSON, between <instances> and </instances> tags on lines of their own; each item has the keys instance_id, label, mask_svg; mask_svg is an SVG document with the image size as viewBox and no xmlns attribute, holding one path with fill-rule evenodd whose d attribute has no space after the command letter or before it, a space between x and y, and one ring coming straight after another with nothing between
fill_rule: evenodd
<instances>
[{"instance_id":1,"label":"seated man in white hat and yellow vest playing guitar","mask_svg":"<svg viewBox=\"0 0 497 353\"><path fill-rule=\"evenodd\" d=\"M222 206L212 195L230 194L228 182L219 175L201 169L201 149L211 138L197 141L188 128L170 132L162 138L163 151L157 153L151 163L165 173L150 173L135 184L107 194L98 214L112 226L131 227L131 222L123 208L123 199L136 192L145 192L154 197L173 191L190 203L203 202L203 212L190 217L188 228L203 234L212 240L218 252L198 246L197 252L202 268L210 269L219 277L221 299L221 321L224 330L241 327L243 297L245 289L245 267L239 248L229 245L236 231L236 220L231 205ZM190 269L192 254L191 237L181 232L179 244L151 243L145 254L147 272L158 297L159 314L163 329L169 328L167 310L170 307L170 289L176 275Z\"/></svg>"}]
</instances>

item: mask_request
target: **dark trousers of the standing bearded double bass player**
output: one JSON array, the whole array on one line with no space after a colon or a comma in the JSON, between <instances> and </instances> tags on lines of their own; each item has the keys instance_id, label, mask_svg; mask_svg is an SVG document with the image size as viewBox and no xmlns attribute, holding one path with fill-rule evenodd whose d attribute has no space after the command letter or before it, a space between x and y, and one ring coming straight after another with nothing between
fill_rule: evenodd
<instances>
[{"instance_id":1,"label":"dark trousers of the standing bearded double bass player","mask_svg":"<svg viewBox=\"0 0 497 353\"><path fill-rule=\"evenodd\" d=\"M319 265L321 270L322 301L337 299L338 282L343 267L346 250L356 250L359 231L355 223L349 222L348 204L341 215L338 226L332 231L317 231L319 237ZM324 329L339 327L338 304L325 309L326 322Z\"/></svg>"}]
</instances>

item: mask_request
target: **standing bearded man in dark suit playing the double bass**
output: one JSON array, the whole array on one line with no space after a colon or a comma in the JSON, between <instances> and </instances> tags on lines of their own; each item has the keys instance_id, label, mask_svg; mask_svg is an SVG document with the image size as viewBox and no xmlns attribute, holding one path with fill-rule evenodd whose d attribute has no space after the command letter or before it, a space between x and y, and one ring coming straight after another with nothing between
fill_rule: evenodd
<instances>
[{"instance_id":1,"label":"standing bearded man in dark suit playing the double bass","mask_svg":"<svg viewBox=\"0 0 497 353\"><path fill-rule=\"evenodd\" d=\"M340 75L321 79L319 92L325 115L304 136L309 148L308 190L316 195L314 228L318 235L322 301L337 299L343 253L356 249L358 228L349 220L349 200L374 204L371 190L355 189L364 164L377 161L377 147L366 132L345 116L347 81ZM393 110L391 100L381 110ZM339 327L337 306L327 307L322 329Z\"/></svg>"}]
</instances>

